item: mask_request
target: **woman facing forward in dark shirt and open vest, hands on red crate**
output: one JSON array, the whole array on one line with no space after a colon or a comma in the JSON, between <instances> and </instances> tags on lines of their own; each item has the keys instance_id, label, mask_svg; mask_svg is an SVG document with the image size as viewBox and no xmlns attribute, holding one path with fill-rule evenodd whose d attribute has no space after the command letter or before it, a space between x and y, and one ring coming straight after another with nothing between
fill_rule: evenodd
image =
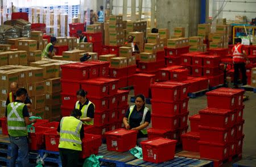
<instances>
[{"instance_id":1,"label":"woman facing forward in dark shirt and open vest, hands on red crate","mask_svg":"<svg viewBox=\"0 0 256 167\"><path fill-rule=\"evenodd\" d=\"M135 97L135 105L130 106L123 118L123 124L125 124L126 130L136 130L137 145L141 147L141 141L147 140L146 128L150 124L151 114L150 109L145 106L145 97L142 94L138 94Z\"/></svg>"}]
</instances>

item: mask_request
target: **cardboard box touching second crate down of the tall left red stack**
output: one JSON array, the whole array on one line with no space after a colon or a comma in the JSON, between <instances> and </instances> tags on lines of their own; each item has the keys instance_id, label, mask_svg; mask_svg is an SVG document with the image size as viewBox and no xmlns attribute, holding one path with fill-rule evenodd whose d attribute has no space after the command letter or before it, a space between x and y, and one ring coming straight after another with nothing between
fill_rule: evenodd
<instances>
[{"instance_id":1,"label":"cardboard box touching second crate down of the tall left red stack","mask_svg":"<svg viewBox=\"0 0 256 167\"><path fill-rule=\"evenodd\" d=\"M44 80L44 82L46 85L46 93L61 91L60 78L49 78Z\"/></svg>"}]
</instances>

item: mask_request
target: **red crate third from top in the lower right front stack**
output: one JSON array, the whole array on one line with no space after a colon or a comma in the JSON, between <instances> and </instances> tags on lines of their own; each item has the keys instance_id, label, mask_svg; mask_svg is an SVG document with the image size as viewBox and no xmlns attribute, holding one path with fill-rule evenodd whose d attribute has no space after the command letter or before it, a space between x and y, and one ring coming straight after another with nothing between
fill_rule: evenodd
<instances>
[{"instance_id":1,"label":"red crate third from top in the lower right front stack","mask_svg":"<svg viewBox=\"0 0 256 167\"><path fill-rule=\"evenodd\" d=\"M227 144L229 140L229 128L214 128L199 126L200 141L207 141L210 143Z\"/></svg>"}]
</instances>

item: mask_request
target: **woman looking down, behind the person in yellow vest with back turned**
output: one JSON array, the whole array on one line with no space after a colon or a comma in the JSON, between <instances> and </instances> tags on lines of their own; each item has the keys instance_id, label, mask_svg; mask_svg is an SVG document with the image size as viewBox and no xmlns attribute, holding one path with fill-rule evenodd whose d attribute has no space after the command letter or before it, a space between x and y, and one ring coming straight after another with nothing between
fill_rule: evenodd
<instances>
[{"instance_id":1,"label":"woman looking down, behind the person in yellow vest with back turned","mask_svg":"<svg viewBox=\"0 0 256 167\"><path fill-rule=\"evenodd\" d=\"M75 109L78 109L82 112L80 120L85 125L93 125L94 118L94 109L95 105L86 98L87 92L83 89L80 89L76 92L77 102Z\"/></svg>"}]
</instances>

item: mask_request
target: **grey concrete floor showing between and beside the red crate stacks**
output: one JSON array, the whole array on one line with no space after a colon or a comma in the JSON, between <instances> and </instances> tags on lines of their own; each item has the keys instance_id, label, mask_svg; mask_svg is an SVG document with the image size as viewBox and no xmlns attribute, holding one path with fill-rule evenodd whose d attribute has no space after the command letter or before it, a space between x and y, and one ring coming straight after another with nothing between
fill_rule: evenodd
<instances>
[{"instance_id":1,"label":"grey concrete floor showing between and beside the red crate stacks","mask_svg":"<svg viewBox=\"0 0 256 167\"><path fill-rule=\"evenodd\" d=\"M131 90L129 94L129 101L130 97L133 95L134 91ZM256 93L246 91L245 95L249 95L249 100L244 102L245 110L243 111L243 119L245 119L245 124L243 126L243 133L245 134L245 139L243 140L243 157L255 155L256 153ZM130 103L130 105L132 104L134 103ZM151 108L151 105L146 106ZM189 116L198 114L201 109L206 107L207 97L205 95L195 99L189 99ZM189 120L188 125L190 126ZM190 131L190 127L188 131ZM229 163L224 166L231 165L232 163Z\"/></svg>"}]
</instances>

